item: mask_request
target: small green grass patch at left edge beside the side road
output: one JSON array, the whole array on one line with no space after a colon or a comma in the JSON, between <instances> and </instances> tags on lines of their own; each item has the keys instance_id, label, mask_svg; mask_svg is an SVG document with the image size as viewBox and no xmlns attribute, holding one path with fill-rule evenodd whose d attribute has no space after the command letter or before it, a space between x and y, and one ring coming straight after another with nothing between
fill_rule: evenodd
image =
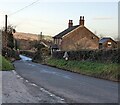
<instances>
[{"instance_id":1,"label":"small green grass patch at left edge beside the side road","mask_svg":"<svg viewBox=\"0 0 120 105\"><path fill-rule=\"evenodd\" d=\"M8 71L13 69L12 63L0 55L0 70Z\"/></svg>"}]
</instances>

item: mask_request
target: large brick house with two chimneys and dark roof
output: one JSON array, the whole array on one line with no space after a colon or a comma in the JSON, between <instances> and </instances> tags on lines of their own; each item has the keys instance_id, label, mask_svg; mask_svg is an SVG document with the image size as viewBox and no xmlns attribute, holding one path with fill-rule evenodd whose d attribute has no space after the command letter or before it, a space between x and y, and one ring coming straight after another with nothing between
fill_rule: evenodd
<instances>
[{"instance_id":1,"label":"large brick house with two chimneys and dark roof","mask_svg":"<svg viewBox=\"0 0 120 105\"><path fill-rule=\"evenodd\" d=\"M99 37L84 24L84 16L80 16L79 25L73 26L73 20L69 20L68 28L53 37L53 50L54 48L62 51L98 49Z\"/></svg>"}]
</instances>

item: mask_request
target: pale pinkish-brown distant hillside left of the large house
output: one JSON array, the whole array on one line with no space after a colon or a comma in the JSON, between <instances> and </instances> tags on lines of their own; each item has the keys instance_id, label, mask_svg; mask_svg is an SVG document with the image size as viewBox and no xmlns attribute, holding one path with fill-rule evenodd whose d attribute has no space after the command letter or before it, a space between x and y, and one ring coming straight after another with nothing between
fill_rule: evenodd
<instances>
[{"instance_id":1,"label":"pale pinkish-brown distant hillside left of the large house","mask_svg":"<svg viewBox=\"0 0 120 105\"><path fill-rule=\"evenodd\" d=\"M31 33L16 32L14 33L14 38L19 40L23 39L23 40L34 41L34 40L41 39L41 36L37 34L31 34ZM42 39L47 41L52 41L52 37L48 35L42 35Z\"/></svg>"}]
</instances>

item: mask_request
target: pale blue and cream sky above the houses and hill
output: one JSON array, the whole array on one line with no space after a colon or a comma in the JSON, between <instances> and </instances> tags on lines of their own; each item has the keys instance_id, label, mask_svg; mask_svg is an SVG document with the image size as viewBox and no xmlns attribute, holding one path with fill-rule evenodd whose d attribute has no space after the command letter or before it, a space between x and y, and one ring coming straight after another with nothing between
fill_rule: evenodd
<instances>
[{"instance_id":1,"label":"pale blue and cream sky above the houses and hill","mask_svg":"<svg viewBox=\"0 0 120 105\"><path fill-rule=\"evenodd\" d=\"M84 16L85 26L97 36L118 37L117 0L0 0L0 28L6 14L17 32L54 36L68 28L69 20L78 25Z\"/></svg>"}]
</instances>

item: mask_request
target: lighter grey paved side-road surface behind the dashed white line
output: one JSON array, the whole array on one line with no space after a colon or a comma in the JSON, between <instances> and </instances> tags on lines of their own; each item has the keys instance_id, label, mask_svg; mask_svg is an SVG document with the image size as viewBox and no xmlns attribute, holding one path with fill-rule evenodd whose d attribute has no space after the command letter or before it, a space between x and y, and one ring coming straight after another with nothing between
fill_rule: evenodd
<instances>
[{"instance_id":1,"label":"lighter grey paved side-road surface behind the dashed white line","mask_svg":"<svg viewBox=\"0 0 120 105\"><path fill-rule=\"evenodd\" d=\"M12 103L12 105L13 103L64 103L60 97L22 78L15 71L2 71L1 96L2 103Z\"/></svg>"}]
</instances>

